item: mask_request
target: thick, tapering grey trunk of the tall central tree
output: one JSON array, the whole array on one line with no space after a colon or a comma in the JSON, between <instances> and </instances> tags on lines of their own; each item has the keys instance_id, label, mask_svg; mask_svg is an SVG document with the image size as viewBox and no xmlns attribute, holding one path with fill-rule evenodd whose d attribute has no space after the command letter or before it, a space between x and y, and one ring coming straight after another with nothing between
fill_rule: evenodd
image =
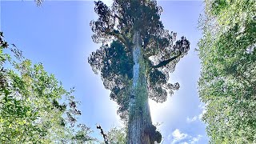
<instances>
[{"instance_id":1,"label":"thick, tapering grey trunk of the tall central tree","mask_svg":"<svg viewBox=\"0 0 256 144\"><path fill-rule=\"evenodd\" d=\"M133 85L130 96L130 114L128 122L128 144L154 143L146 127L151 126L150 106L148 103L148 90L146 84L146 67L142 57L142 44L138 32L133 38Z\"/></svg>"}]
</instances>

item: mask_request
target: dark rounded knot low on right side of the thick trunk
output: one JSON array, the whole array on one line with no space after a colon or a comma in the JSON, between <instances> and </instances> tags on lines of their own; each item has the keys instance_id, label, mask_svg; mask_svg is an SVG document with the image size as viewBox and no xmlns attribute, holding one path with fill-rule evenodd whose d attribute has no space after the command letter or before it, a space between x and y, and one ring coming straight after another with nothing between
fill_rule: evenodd
<instances>
[{"instance_id":1,"label":"dark rounded knot low on right side of the thick trunk","mask_svg":"<svg viewBox=\"0 0 256 144\"><path fill-rule=\"evenodd\" d=\"M157 127L154 125L146 126L144 132L149 134L150 138L154 141L160 143L162 141L162 134L157 130Z\"/></svg>"}]
</instances>

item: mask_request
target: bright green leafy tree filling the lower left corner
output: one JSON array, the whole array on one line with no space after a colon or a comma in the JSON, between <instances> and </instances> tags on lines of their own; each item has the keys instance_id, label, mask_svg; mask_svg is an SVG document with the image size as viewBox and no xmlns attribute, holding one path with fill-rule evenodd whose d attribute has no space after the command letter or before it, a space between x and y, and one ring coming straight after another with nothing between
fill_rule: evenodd
<instances>
[{"instance_id":1,"label":"bright green leafy tree filling the lower left corner","mask_svg":"<svg viewBox=\"0 0 256 144\"><path fill-rule=\"evenodd\" d=\"M81 111L73 90L64 90L42 63L33 65L14 44L10 47L2 32L0 44L0 143L93 141L91 130L77 123Z\"/></svg>"}]
</instances>

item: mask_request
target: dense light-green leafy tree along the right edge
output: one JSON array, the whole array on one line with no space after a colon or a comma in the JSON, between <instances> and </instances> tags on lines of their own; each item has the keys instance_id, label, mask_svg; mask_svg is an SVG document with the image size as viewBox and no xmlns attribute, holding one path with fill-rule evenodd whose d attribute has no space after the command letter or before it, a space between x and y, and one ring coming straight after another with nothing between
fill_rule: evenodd
<instances>
[{"instance_id":1,"label":"dense light-green leafy tree along the right edge","mask_svg":"<svg viewBox=\"0 0 256 144\"><path fill-rule=\"evenodd\" d=\"M256 142L256 2L206 0L199 95L210 143Z\"/></svg>"}]
</instances>

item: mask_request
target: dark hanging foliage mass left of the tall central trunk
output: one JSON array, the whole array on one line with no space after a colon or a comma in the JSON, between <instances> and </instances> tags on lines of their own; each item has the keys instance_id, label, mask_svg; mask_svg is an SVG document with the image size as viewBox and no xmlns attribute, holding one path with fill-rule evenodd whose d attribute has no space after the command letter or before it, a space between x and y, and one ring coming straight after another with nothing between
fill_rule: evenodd
<instances>
[{"instance_id":1,"label":"dark hanging foliage mass left of the tall central trunk","mask_svg":"<svg viewBox=\"0 0 256 144\"><path fill-rule=\"evenodd\" d=\"M128 110L130 83L133 77L133 60L125 46L114 41L90 54L88 62L95 74L101 74L106 89L111 90L110 98L118 102L118 111Z\"/></svg>"}]
</instances>

